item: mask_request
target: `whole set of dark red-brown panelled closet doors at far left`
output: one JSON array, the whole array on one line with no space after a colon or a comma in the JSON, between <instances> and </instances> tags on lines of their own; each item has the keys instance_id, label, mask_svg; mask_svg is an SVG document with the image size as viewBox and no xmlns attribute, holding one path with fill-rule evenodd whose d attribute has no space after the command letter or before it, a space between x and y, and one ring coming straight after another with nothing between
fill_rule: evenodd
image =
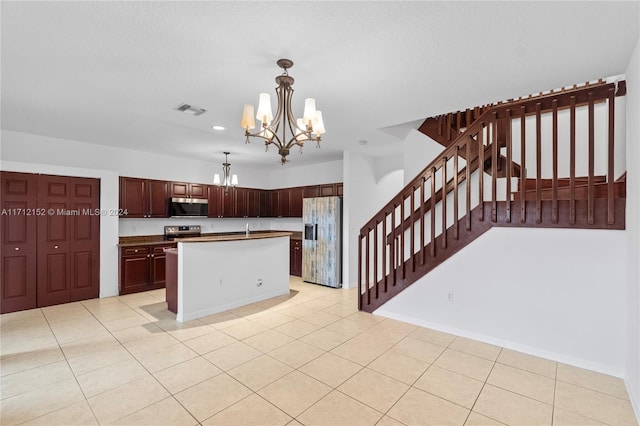
<instances>
[{"instance_id":1,"label":"whole set of dark red-brown panelled closet doors at far left","mask_svg":"<svg viewBox=\"0 0 640 426\"><path fill-rule=\"evenodd\" d=\"M2 313L99 296L99 207L98 179L2 172Z\"/></svg>"}]
</instances>

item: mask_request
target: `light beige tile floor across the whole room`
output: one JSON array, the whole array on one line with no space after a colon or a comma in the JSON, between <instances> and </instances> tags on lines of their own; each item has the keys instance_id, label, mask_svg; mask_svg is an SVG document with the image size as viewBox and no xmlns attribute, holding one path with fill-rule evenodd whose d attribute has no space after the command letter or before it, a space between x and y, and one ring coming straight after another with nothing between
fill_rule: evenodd
<instances>
[{"instance_id":1,"label":"light beige tile floor across the whole room","mask_svg":"<svg viewBox=\"0 0 640 426\"><path fill-rule=\"evenodd\" d=\"M2 425L637 425L622 380L291 294L180 324L164 290L5 314Z\"/></svg>"}]
</instances>

